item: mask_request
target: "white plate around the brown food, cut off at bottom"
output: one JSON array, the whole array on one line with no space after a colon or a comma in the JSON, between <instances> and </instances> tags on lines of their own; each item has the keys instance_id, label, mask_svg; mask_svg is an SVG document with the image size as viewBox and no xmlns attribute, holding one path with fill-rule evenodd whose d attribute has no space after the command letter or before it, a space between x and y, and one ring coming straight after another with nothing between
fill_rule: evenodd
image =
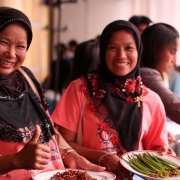
<instances>
[{"instance_id":1,"label":"white plate around the brown food, cut off at bottom","mask_svg":"<svg viewBox=\"0 0 180 180\"><path fill-rule=\"evenodd\" d=\"M59 170L53 170L53 171L47 171L47 172L42 172L39 174L36 174L32 176L33 180L49 180L54 174L57 172L63 173L64 171L67 170L78 170L81 172L84 172L86 170L79 170L79 169L59 169ZM96 178L98 180L113 180L116 178L116 176L113 173L103 171L103 172L98 172L98 171L86 171L91 177Z\"/></svg>"}]
</instances>

